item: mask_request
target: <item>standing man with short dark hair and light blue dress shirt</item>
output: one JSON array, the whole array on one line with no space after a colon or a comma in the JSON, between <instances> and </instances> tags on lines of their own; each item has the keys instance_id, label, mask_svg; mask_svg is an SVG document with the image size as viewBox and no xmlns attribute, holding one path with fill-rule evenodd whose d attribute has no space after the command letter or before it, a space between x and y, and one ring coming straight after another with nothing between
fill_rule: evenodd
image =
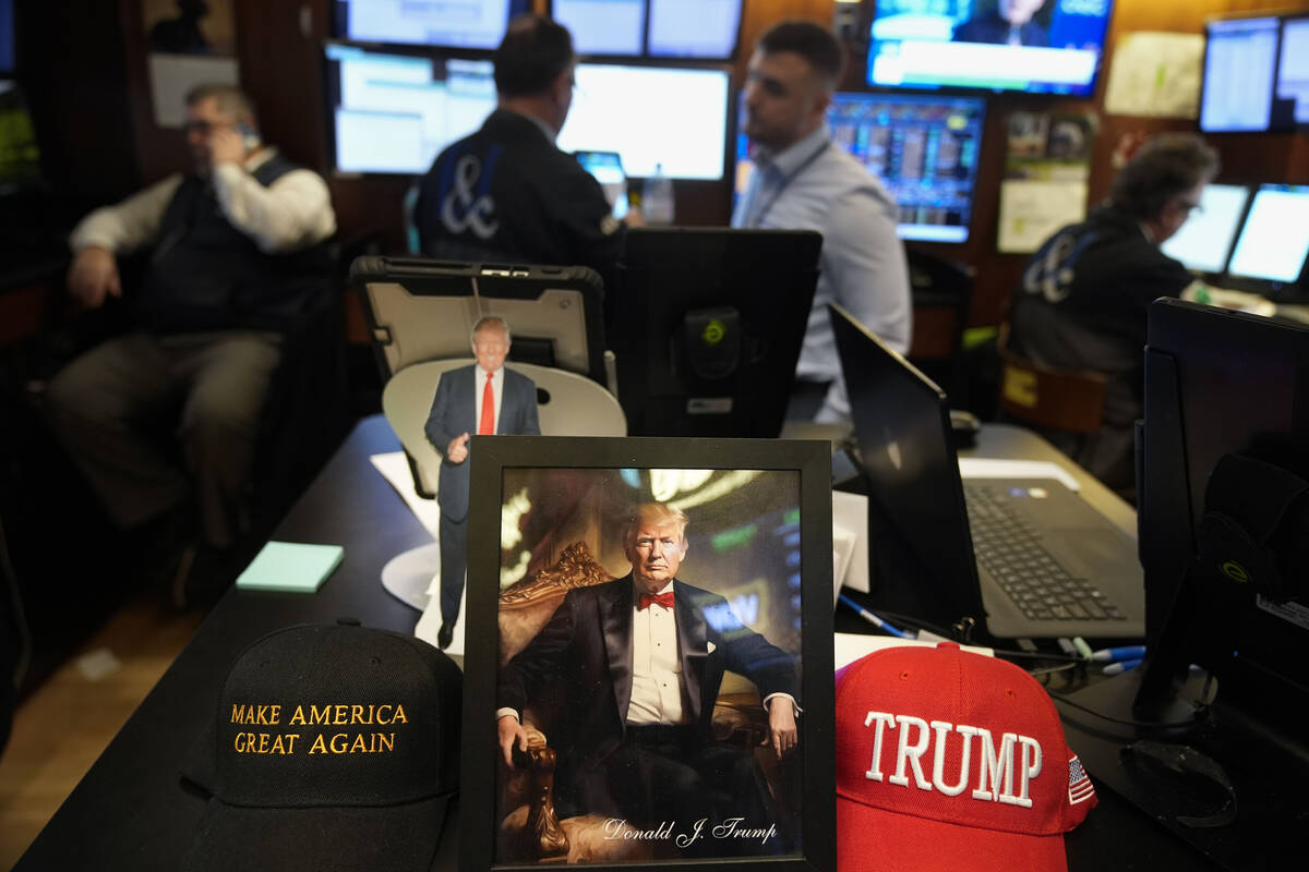
<instances>
[{"instance_id":1,"label":"standing man with short dark hair and light blue dress shirt","mask_svg":"<svg viewBox=\"0 0 1309 872\"><path fill-rule=\"evenodd\" d=\"M844 52L830 30L783 21L750 58L745 132L755 171L733 227L817 230L823 235L818 288L805 329L787 417L848 421L827 302L836 301L888 345L906 352L912 310L898 208L859 161L827 135L826 111Z\"/></svg>"}]
</instances>

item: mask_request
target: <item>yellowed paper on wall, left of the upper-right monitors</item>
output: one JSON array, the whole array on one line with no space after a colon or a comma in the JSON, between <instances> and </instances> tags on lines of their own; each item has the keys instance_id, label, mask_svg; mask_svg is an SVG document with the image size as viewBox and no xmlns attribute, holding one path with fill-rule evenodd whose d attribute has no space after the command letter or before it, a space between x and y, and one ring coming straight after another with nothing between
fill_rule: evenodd
<instances>
[{"instance_id":1,"label":"yellowed paper on wall, left of the upper-right monitors","mask_svg":"<svg viewBox=\"0 0 1309 872\"><path fill-rule=\"evenodd\" d=\"M1124 34L1114 47L1105 86L1110 115L1199 118L1204 37L1190 33Z\"/></svg>"}]
</instances>

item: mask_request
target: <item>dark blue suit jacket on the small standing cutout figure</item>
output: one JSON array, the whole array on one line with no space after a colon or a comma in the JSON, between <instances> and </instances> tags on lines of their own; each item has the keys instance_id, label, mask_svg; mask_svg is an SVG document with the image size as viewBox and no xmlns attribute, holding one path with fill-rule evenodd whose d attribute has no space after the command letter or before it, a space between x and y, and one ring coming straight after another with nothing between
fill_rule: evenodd
<instances>
[{"instance_id":1,"label":"dark blue suit jacket on the small standing cutout figure","mask_svg":"<svg viewBox=\"0 0 1309 872\"><path fill-rule=\"evenodd\" d=\"M450 441L461 433L478 431L476 365L461 366L441 374L427 416L427 433L432 447L441 455L441 473L437 478L436 502L441 515L450 520L463 520L469 514L469 461L450 463L445 452ZM504 367L504 390L500 397L500 416L496 433L501 435L541 435L537 418L537 384L526 375Z\"/></svg>"}]
</instances>

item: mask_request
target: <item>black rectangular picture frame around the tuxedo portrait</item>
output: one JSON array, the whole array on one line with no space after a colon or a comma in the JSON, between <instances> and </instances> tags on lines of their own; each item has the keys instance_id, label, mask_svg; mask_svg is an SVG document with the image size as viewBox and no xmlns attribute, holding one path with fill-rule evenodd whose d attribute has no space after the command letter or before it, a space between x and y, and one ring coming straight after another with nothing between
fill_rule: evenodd
<instances>
[{"instance_id":1,"label":"black rectangular picture frame around the tuxedo portrait","mask_svg":"<svg viewBox=\"0 0 1309 872\"><path fill-rule=\"evenodd\" d=\"M801 869L834 869L836 830L830 444L825 441L787 439L474 437L470 446L470 463L473 465L470 469L469 512L469 642L465 650L459 868L465 872L537 869L547 862L524 862L500 856L499 796L503 774L500 769L504 763L497 762L500 749L496 740L496 686L500 675L501 645L500 579L501 569L507 563L501 541L501 529L505 528L505 506L512 506L513 515L511 516L517 516L520 522L518 527L511 524L508 529L517 529L518 533L522 533L524 527L530 529L531 523L529 522L533 515L538 515L537 522L550 528L550 518L552 516L548 510L550 499L555 499L559 505L563 505L564 499L575 501L572 509L558 509L556 506L554 516L558 516L559 511L576 511L577 506L584 505L588 486L594 486L600 489L601 495L590 497L598 502L588 507L586 511L592 519L588 523L596 524L594 529L598 531L600 536L611 539L614 535L613 523L620 524L622 520L610 522L607 509L617 503L619 497L626 497L630 503L641 502L643 497L651 493L651 480L657 476L661 476L661 481L666 480L666 471L707 471L707 482L702 488L700 495L703 497L708 492L708 485L726 481L728 484L717 486L726 497L719 495L698 507L686 507L686 514L691 516L691 526L686 535L687 541L692 543L694 536L712 532L696 531L695 526L704 518L713 516L708 507L709 502L724 501L717 523L721 529L716 535L720 537L726 535L728 539L713 540L713 548L721 541L730 544L732 536L749 537L757 535L759 529L763 529L764 535L772 535L772 528L763 524L755 524L754 532L750 532L751 522L759 518L767 520L768 512L775 509L774 503L785 502L781 495L785 488L793 488L795 505L787 509L789 514L785 515L785 519L788 523L798 524L798 531L792 531L798 532L798 566L788 567L788 574L781 583L788 590L798 591L798 604L795 603L795 594L788 594L784 601L780 596L770 599L768 595L764 595L761 599L768 604L768 614L776 616L778 609L785 607L795 609L797 616L791 626L795 633L792 645L798 664L802 714L797 719L796 754L788 756L787 760L798 760L800 766L798 777L792 778L793 790L791 794L798 800L791 808L795 811L798 807L798 812L788 818L793 824L791 831L798 838L789 843L789 852L781 856L747 854L723 859L679 856L670 859L664 856L635 862L584 863L583 865L584 868L639 871L666 869L670 865L679 869L709 869L723 864L749 863L750 867L766 864L770 869L788 872L792 869L797 872ZM755 475L751 477L751 473ZM575 480L581 485L564 489L541 485L535 493L530 493L529 488L526 506L530 507L530 511L525 511L522 493L516 490L513 494L507 494L507 482L524 481L525 477L531 476L538 476L542 481L564 481L565 484ZM631 494L613 493L607 481L615 476L623 480L623 486L630 489ZM636 486L632 486L634 480ZM792 484L783 484L785 480ZM778 482L776 493L771 497L758 498L754 492L749 490L758 481L764 482L763 490L759 493L767 493L768 482ZM645 482L644 489L641 482ZM560 493L567 495L562 497ZM584 493L584 495L579 498L579 493ZM733 493L737 494L734 499L730 498ZM545 507L531 502L537 494L546 494L542 501ZM694 497L695 492L692 490L691 494ZM524 522L524 518L529 520ZM562 527L563 524L556 524L552 529ZM541 527L535 529L539 531ZM793 548L796 539L791 533L787 535L791 536L785 540L787 546ZM618 536L620 539L620 533ZM533 549L531 537L526 537L525 541L526 545L520 544L520 553L524 548L529 553ZM555 546L559 546L560 541L562 539L556 539ZM703 544L704 540L700 541ZM622 548L620 541L618 548ZM740 557L728 560L728 563L746 560L751 549L746 548L737 553ZM696 560L694 546L689 548L686 563L682 567L683 571L678 573L678 579L690 579L691 584L703 586L711 591L716 586L721 587L721 580L713 577L721 577L724 573L721 570L719 573L706 571L707 563L702 563L700 570L696 570L694 569ZM793 556L787 560L795 562ZM798 573L798 578L796 578L796 573ZM620 577L618 571L609 574ZM726 574L730 575L730 571ZM776 580L762 583L772 586L763 590L776 592ZM741 611L741 601L749 603L750 600L749 597L746 600L738 597L733 601L733 613ZM552 611L552 607L547 608ZM745 618L741 620L750 624ZM781 626L781 624L778 625ZM509 635L507 634L507 638ZM787 646L779 642L779 647ZM717 701L721 702L724 696L725 693L720 688ZM793 771L792 775L795 775ZM778 822L784 824L785 821L779 820ZM678 831L686 829L682 824L674 822L674 826ZM733 835L732 838L741 837ZM664 846L664 850L670 848Z\"/></svg>"}]
</instances>

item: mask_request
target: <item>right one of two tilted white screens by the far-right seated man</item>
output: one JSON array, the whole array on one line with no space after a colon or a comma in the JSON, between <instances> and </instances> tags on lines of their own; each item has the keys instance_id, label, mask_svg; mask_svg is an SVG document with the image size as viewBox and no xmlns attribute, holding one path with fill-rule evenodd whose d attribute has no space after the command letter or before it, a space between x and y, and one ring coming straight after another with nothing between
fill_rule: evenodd
<instances>
[{"instance_id":1,"label":"right one of two tilted white screens by the far-right seated man","mask_svg":"<svg viewBox=\"0 0 1309 872\"><path fill-rule=\"evenodd\" d=\"M1309 255L1309 186L1261 184L1232 252L1233 276L1292 282Z\"/></svg>"}]
</instances>

